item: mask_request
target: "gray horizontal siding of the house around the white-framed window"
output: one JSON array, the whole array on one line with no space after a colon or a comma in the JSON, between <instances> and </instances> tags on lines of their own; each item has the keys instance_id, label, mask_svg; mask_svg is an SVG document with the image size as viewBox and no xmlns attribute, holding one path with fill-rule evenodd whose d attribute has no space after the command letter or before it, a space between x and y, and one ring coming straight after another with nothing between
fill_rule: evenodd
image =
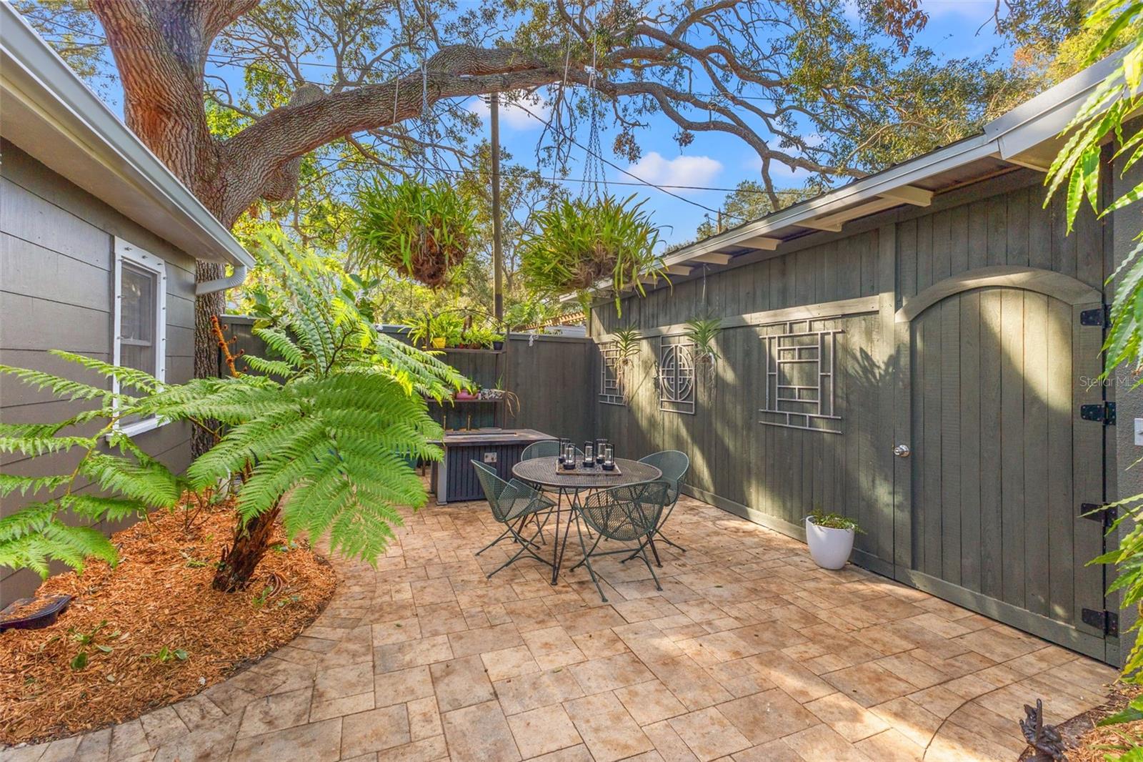
<instances>
[{"instance_id":1,"label":"gray horizontal siding of the house around the white-framed window","mask_svg":"<svg viewBox=\"0 0 1143 762\"><path fill-rule=\"evenodd\" d=\"M0 364L79 379L79 368L48 351L64 349L110 362L118 236L166 260L167 380L190 379L194 260L10 143L0 142ZM5 422L53 421L78 410L79 404L0 378L0 420ZM190 462L190 431L184 424L144 432L137 442L175 469ZM74 462L73 458L0 455L0 468L9 474L58 473L67 462ZM26 500L3 498L0 515L11 514ZM38 584L34 573L0 569L0 605L29 594Z\"/></svg>"}]
</instances>

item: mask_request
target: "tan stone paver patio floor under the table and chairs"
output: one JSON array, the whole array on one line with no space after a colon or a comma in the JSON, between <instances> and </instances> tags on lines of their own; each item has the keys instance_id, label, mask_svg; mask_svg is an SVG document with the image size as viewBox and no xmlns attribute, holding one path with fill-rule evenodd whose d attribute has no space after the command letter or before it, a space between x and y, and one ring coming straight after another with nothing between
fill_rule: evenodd
<instances>
[{"instance_id":1,"label":"tan stone paver patio floor under the table and chairs","mask_svg":"<svg viewBox=\"0 0 1143 762\"><path fill-rule=\"evenodd\" d=\"M684 498L663 592L641 563L558 587L485 503L430 506L321 618L141 721L5 760L1014 760L1016 719L1097 705L1114 672ZM573 535L573 541L575 537ZM504 548L501 550L499 548ZM569 558L578 557L573 543ZM565 569L572 564L566 564Z\"/></svg>"}]
</instances>

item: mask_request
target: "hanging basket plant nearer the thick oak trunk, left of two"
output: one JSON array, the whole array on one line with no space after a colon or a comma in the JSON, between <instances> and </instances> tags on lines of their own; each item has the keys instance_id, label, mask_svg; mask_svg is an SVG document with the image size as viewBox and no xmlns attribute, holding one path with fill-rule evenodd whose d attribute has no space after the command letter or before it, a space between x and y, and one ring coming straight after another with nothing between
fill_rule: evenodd
<instances>
[{"instance_id":1,"label":"hanging basket plant nearer the thick oak trunk, left of two","mask_svg":"<svg viewBox=\"0 0 1143 762\"><path fill-rule=\"evenodd\" d=\"M440 288L469 253L475 211L446 182L374 180L357 196L352 264L392 268Z\"/></svg>"}]
</instances>

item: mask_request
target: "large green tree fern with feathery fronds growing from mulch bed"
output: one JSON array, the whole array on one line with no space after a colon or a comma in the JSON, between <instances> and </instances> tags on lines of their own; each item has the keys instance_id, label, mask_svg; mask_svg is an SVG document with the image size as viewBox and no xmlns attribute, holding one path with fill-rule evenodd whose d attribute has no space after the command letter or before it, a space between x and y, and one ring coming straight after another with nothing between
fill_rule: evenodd
<instances>
[{"instance_id":1,"label":"large green tree fern with feathery fronds growing from mulch bed","mask_svg":"<svg viewBox=\"0 0 1143 762\"><path fill-rule=\"evenodd\" d=\"M0 565L47 574L50 559L77 569L89 556L114 562L105 537L89 526L69 526L59 514L71 510L91 523L138 515L175 506L186 487L205 490L235 477L237 525L219 561L217 589L246 587L279 518L291 537L328 533L333 549L343 555L374 562L384 551L392 526L401 523L399 507L418 508L427 499L413 463L441 457L432 444L441 430L429 416L424 395L469 382L425 352L378 334L352 300L322 277L317 257L263 239L262 261L273 276L283 315L255 332L281 359L243 357L255 373L161 387L138 371L56 352L118 376L121 388L138 390L130 397L38 371L0 367L65 399L96 405L58 423L0 424L0 452L81 452L74 474L0 477L0 493L33 498L0 519ZM115 432L125 415L200 426L213 420L221 429L214 431L214 447L183 479ZM70 432L93 423L99 427L94 435ZM106 495L77 494L72 486L80 477Z\"/></svg>"}]
</instances>

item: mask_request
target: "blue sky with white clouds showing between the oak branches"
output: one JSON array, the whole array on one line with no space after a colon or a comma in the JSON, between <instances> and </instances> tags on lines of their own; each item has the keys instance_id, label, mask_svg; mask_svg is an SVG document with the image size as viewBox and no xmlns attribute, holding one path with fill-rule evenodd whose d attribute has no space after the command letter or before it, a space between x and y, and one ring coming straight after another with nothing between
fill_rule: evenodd
<instances>
[{"instance_id":1,"label":"blue sky with white clouds showing between the oak branches","mask_svg":"<svg viewBox=\"0 0 1143 762\"><path fill-rule=\"evenodd\" d=\"M922 7L929 14L929 22L917 35L916 43L932 48L942 57L982 57L1001 43L990 23L994 0L922 0ZM234 81L233 71L224 76ZM121 93L114 81L101 82L98 92L117 112L121 113ZM483 116L487 125L487 105L473 98L466 106ZM544 113L543 103L527 104L527 111L511 105L502 106L501 142L513 154L513 161L535 165L536 143L543 122L533 114ZM677 126L665 117L652 117L650 128L641 130L638 135L642 157L639 161L630 164L613 156L610 145L615 130L605 129L600 135L604 154L623 167L623 170L607 168L608 182L631 183L633 175L657 185L733 189L743 180L759 176L758 156L737 138L698 133L690 145L680 149L672 140L677 132ZM581 143L586 143L586 134L578 134L576 137ZM578 181L583 177L581 164L583 156L582 150L573 149L573 166L568 176L568 186L573 193L578 193L581 189ZM544 168L543 172L545 175L551 174L550 168ZM804 180L784 167L777 167L774 172L775 181L789 186L800 185ZM640 185L612 185L609 190L620 196L636 193L647 200L646 208L654 213L655 222L663 227L663 246L693 239L697 225L710 214L703 207L718 208L725 196L724 190L672 190L684 197L680 199L657 189Z\"/></svg>"}]
</instances>

